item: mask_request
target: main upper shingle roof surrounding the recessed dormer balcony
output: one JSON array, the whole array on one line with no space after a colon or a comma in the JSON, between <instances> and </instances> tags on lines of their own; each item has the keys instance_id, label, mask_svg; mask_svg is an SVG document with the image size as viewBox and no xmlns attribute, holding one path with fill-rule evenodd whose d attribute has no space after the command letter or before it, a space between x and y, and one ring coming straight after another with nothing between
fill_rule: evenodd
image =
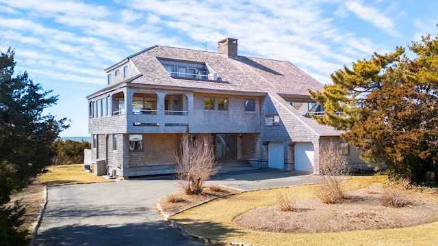
<instances>
[{"instance_id":1,"label":"main upper shingle roof surrounding the recessed dormer balcony","mask_svg":"<svg viewBox=\"0 0 438 246\"><path fill-rule=\"evenodd\" d=\"M207 64L227 83L173 79L157 57ZM307 89L322 90L322 84L289 61L255 57L228 57L221 53L153 46L130 57L143 74L133 83L168 85L241 92L274 92L308 95Z\"/></svg>"}]
</instances>

